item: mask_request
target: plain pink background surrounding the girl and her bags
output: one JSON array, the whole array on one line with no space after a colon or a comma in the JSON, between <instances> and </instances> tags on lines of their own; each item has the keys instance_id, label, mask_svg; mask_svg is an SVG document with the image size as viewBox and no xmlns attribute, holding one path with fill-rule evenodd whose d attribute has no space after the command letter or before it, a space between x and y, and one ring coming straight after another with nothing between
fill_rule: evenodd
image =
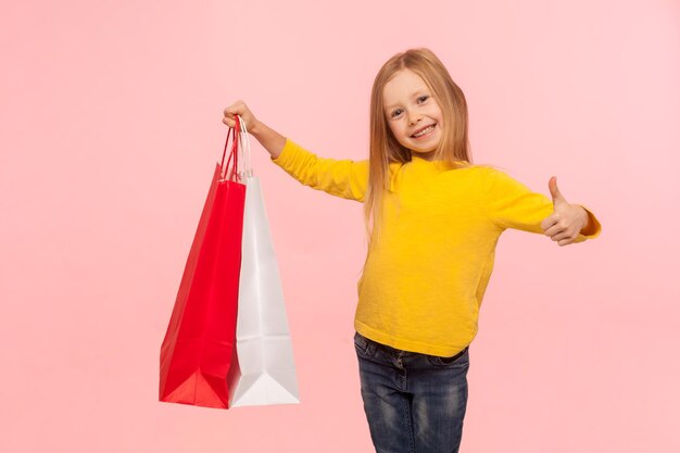
<instances>
[{"instance_id":1,"label":"plain pink background surrounding the girl and her bags","mask_svg":"<svg viewBox=\"0 0 680 453\"><path fill-rule=\"evenodd\" d=\"M677 1L3 3L0 451L372 451L361 204L259 143L302 404L159 403L159 349L223 110L365 159L373 78L419 46L467 96L475 162L545 194L556 175L604 228L503 235L461 451L680 451Z\"/></svg>"}]
</instances>

